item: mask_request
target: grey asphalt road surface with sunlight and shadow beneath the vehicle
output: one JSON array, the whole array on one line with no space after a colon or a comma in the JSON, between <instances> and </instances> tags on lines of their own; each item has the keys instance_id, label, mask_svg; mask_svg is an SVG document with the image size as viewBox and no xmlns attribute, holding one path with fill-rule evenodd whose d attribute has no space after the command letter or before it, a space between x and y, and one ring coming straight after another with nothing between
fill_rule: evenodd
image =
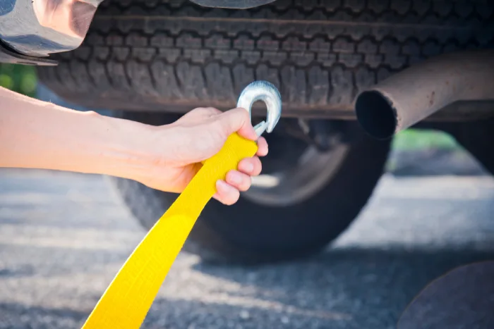
<instances>
[{"instance_id":1,"label":"grey asphalt road surface with sunlight and shadow beneath the vehicle","mask_svg":"<svg viewBox=\"0 0 494 329\"><path fill-rule=\"evenodd\" d=\"M386 175L319 256L181 254L143 328L395 328L430 280L494 260L493 200L487 176ZM80 328L144 234L100 176L0 170L0 328Z\"/></svg>"}]
</instances>

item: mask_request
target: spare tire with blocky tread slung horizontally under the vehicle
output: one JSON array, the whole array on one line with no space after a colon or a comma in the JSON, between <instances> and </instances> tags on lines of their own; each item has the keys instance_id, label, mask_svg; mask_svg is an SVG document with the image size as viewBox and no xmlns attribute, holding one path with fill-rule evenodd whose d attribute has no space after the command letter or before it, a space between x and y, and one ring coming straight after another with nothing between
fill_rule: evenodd
<instances>
[{"instance_id":1,"label":"spare tire with blocky tread slung horizontally under the vehicle","mask_svg":"<svg viewBox=\"0 0 494 329\"><path fill-rule=\"evenodd\" d=\"M423 58L492 46L493 1L290 1L248 10L188 0L107 0L76 51L40 79L90 107L232 108L253 80L284 112L347 110L354 96ZM90 97L88 97L90 96ZM170 111L168 107L168 111Z\"/></svg>"}]
</instances>

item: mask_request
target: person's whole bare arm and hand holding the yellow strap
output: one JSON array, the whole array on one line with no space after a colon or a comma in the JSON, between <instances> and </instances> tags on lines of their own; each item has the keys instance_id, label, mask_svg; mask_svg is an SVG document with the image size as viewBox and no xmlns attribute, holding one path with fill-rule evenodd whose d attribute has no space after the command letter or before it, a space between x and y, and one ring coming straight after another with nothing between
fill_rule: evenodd
<instances>
[{"instance_id":1,"label":"person's whole bare arm and hand holding the yellow strap","mask_svg":"<svg viewBox=\"0 0 494 329\"><path fill-rule=\"evenodd\" d=\"M216 182L215 199L231 205L259 175L267 142L248 112L195 108L169 125L151 126L73 111L0 87L0 167L38 168L128 178L181 192L234 132L257 140L258 152Z\"/></svg>"}]
</instances>

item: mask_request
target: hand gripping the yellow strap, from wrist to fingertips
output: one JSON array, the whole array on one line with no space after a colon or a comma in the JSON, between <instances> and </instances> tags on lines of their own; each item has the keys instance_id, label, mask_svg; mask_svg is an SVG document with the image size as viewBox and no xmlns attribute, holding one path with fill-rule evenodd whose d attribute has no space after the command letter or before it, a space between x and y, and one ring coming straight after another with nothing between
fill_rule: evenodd
<instances>
[{"instance_id":1,"label":"hand gripping the yellow strap, from wrist to fingertips","mask_svg":"<svg viewBox=\"0 0 494 329\"><path fill-rule=\"evenodd\" d=\"M226 181L216 183L214 198L223 204L234 204L240 192L251 187L251 176L260 174L259 156L267 154L266 140L255 134L243 108L224 113L216 108L195 108L170 125L152 129L153 156L137 180L165 192L182 192L202 167L201 161L217 154L229 135L238 132L246 139L257 139L258 152L240 161L237 170L230 170Z\"/></svg>"}]
</instances>

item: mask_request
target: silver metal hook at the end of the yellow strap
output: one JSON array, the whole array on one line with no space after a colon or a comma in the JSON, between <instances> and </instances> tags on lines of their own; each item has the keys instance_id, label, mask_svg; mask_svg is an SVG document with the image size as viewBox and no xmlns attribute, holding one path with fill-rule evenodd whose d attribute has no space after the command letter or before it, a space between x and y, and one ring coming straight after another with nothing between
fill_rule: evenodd
<instances>
[{"instance_id":1,"label":"silver metal hook at the end of the yellow strap","mask_svg":"<svg viewBox=\"0 0 494 329\"><path fill-rule=\"evenodd\" d=\"M272 132L275 129L282 116L282 96L272 83L264 80L254 81L242 90L236 107L245 108L251 116L252 104L255 101L263 101L267 109L266 120L254 127L255 132L260 136L265 131Z\"/></svg>"}]
</instances>

